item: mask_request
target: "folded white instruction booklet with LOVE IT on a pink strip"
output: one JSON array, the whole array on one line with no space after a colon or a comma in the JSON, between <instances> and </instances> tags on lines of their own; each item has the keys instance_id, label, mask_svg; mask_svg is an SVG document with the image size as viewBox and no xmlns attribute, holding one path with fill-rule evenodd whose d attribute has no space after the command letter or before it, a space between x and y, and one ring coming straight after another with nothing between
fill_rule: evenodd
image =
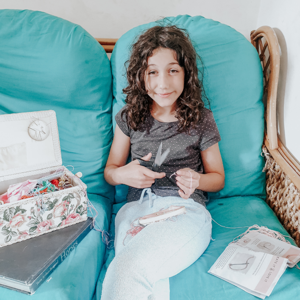
<instances>
[{"instance_id":1,"label":"folded white instruction booklet with LOVE IT on a pink strip","mask_svg":"<svg viewBox=\"0 0 300 300\"><path fill-rule=\"evenodd\" d=\"M253 230L229 243L208 273L265 299L299 260L298 247Z\"/></svg>"}]
</instances>

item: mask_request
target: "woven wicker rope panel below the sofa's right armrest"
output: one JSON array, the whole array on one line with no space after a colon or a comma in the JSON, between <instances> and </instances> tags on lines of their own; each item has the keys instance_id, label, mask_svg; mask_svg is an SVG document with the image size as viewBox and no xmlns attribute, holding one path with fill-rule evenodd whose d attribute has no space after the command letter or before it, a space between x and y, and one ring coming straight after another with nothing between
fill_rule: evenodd
<instances>
[{"instance_id":1,"label":"woven wicker rope panel below the sofa's right armrest","mask_svg":"<svg viewBox=\"0 0 300 300\"><path fill-rule=\"evenodd\" d=\"M300 247L300 192L263 145L265 155L267 203L277 214L283 227Z\"/></svg>"}]
</instances>

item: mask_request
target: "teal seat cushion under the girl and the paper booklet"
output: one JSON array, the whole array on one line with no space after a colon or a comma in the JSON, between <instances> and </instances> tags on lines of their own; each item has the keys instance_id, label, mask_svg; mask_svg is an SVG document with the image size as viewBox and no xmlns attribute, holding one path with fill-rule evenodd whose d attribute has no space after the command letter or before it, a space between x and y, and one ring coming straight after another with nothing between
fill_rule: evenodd
<instances>
[{"instance_id":1,"label":"teal seat cushion under the girl and the paper booklet","mask_svg":"<svg viewBox=\"0 0 300 300\"><path fill-rule=\"evenodd\" d=\"M114 220L119 209L125 202L113 205L113 214L110 224L110 233L114 238ZM288 235L280 224L274 212L257 196L229 197L212 199L207 204L212 218L226 227L242 227L258 224L277 230L283 235ZM212 238L208 248L190 267L170 278L170 300L255 300L257 297L248 294L232 284L208 274L207 271L214 264L226 246L247 228L227 229L212 222ZM287 238L288 239L288 238ZM288 239L296 245L291 239ZM105 264L103 265L94 300L100 300L102 283L108 265L115 255L114 249L107 249ZM298 299L300 295L300 271L296 268L287 268L274 287L270 300Z\"/></svg>"}]
</instances>

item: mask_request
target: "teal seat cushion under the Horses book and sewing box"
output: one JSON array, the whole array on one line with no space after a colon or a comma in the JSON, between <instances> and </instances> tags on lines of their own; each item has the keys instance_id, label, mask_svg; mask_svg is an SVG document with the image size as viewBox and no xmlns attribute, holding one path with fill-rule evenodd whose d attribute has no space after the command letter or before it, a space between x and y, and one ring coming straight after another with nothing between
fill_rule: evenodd
<instances>
[{"instance_id":1,"label":"teal seat cushion under the Horses book and sewing box","mask_svg":"<svg viewBox=\"0 0 300 300\"><path fill-rule=\"evenodd\" d=\"M88 194L98 211L98 225L108 230L111 205L106 198ZM88 216L91 213L88 212ZM88 300L92 299L101 267L104 262L105 244L101 232L91 230L61 264L37 289L34 295L26 295L0 287L0 299L9 300Z\"/></svg>"}]
</instances>

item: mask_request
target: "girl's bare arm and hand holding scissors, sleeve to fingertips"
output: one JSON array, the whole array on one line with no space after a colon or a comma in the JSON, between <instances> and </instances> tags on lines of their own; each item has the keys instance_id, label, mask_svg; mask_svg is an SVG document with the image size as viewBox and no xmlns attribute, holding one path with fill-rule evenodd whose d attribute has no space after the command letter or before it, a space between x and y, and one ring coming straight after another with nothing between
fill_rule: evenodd
<instances>
[{"instance_id":1,"label":"girl's bare arm and hand holding scissors, sleeve to fingertips","mask_svg":"<svg viewBox=\"0 0 300 300\"><path fill-rule=\"evenodd\" d=\"M126 136L118 125L116 125L110 155L104 169L104 178L111 185L126 184L132 187L151 187L156 178L163 178L165 173L157 173L139 164L137 160L126 165L130 151L130 137ZM149 161L152 154L143 157Z\"/></svg>"}]
</instances>

